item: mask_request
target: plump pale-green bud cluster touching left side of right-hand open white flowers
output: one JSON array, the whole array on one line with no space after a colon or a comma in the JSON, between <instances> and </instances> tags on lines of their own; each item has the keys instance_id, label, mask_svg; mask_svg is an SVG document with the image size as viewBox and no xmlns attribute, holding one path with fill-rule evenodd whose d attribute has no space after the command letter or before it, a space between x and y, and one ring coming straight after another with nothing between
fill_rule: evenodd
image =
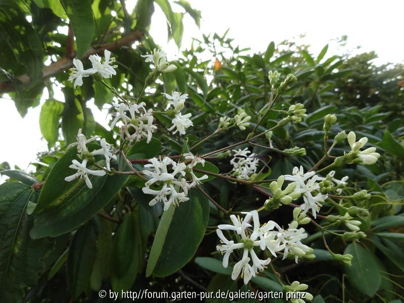
<instances>
[{"instance_id":1,"label":"plump pale-green bud cluster touching left side of right-hand open white flowers","mask_svg":"<svg viewBox=\"0 0 404 303\"><path fill-rule=\"evenodd\" d=\"M285 177L279 176L276 181L272 181L269 185L273 195L264 203L264 208L267 211L277 209L281 204L288 205L292 200L296 200L300 197L301 193L299 191L294 191L297 185L296 182L290 183L282 190L284 181Z\"/></svg>"}]
</instances>

